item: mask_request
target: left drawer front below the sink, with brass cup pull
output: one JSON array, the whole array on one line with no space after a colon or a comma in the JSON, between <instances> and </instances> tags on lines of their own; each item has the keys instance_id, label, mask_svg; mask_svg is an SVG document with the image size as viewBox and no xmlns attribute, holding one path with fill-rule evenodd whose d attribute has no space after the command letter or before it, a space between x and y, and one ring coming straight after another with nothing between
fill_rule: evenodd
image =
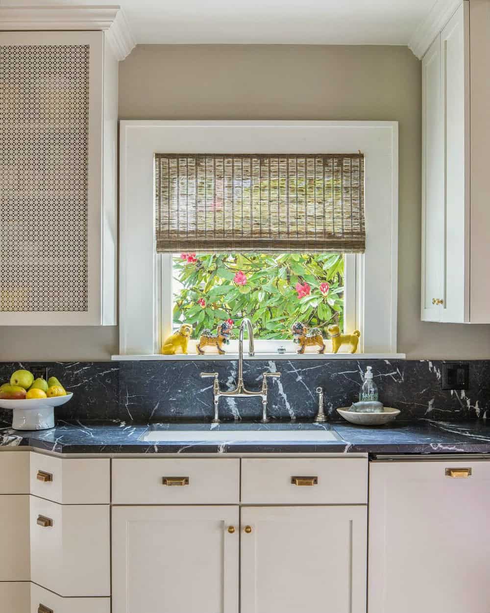
<instances>
[{"instance_id":1,"label":"left drawer front below the sink, with brass cup pull","mask_svg":"<svg viewBox=\"0 0 490 613\"><path fill-rule=\"evenodd\" d=\"M240 461L229 459L116 459L113 504L238 503Z\"/></svg>"}]
</instances>

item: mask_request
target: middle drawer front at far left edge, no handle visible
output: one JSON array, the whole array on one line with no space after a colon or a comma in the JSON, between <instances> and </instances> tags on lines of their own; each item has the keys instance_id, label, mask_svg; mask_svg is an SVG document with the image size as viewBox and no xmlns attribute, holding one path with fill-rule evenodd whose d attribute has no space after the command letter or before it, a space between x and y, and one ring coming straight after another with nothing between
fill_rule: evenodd
<instances>
[{"instance_id":1,"label":"middle drawer front at far left edge, no handle visible","mask_svg":"<svg viewBox=\"0 0 490 613\"><path fill-rule=\"evenodd\" d=\"M29 496L0 496L0 581L29 581ZM1 602L1 601L0 601ZM0 607L1 611L1 607Z\"/></svg>"}]
</instances>

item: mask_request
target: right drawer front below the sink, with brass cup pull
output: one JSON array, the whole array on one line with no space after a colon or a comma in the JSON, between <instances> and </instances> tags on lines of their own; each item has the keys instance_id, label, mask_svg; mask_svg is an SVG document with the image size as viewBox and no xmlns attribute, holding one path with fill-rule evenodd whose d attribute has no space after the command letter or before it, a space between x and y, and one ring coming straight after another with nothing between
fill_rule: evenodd
<instances>
[{"instance_id":1,"label":"right drawer front below the sink, with brass cup pull","mask_svg":"<svg viewBox=\"0 0 490 613\"><path fill-rule=\"evenodd\" d=\"M366 504L367 459L243 459L241 500L253 504Z\"/></svg>"}]
</instances>

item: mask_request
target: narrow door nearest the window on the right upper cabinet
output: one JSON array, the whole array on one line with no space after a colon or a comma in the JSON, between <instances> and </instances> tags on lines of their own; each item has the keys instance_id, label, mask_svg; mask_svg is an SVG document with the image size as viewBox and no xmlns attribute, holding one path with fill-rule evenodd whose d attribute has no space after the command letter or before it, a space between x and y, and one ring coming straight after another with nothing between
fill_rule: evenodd
<instances>
[{"instance_id":1,"label":"narrow door nearest the window on the right upper cabinet","mask_svg":"<svg viewBox=\"0 0 490 613\"><path fill-rule=\"evenodd\" d=\"M421 318L440 321L444 275L444 148L440 37L422 60Z\"/></svg>"}]
</instances>

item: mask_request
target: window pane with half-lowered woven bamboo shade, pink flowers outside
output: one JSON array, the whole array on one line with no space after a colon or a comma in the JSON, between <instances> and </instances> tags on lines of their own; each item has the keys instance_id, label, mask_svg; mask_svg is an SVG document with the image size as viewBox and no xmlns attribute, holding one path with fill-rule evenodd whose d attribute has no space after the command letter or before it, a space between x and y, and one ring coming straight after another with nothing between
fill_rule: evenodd
<instances>
[{"instance_id":1,"label":"window pane with half-lowered woven bamboo shade, pink flowers outside","mask_svg":"<svg viewBox=\"0 0 490 613\"><path fill-rule=\"evenodd\" d=\"M281 344L266 340L293 352L298 321L344 332L344 254L365 243L363 154L156 154L155 183L156 250L180 252L165 260L174 332L191 324L198 339L246 316L258 352Z\"/></svg>"}]
</instances>

